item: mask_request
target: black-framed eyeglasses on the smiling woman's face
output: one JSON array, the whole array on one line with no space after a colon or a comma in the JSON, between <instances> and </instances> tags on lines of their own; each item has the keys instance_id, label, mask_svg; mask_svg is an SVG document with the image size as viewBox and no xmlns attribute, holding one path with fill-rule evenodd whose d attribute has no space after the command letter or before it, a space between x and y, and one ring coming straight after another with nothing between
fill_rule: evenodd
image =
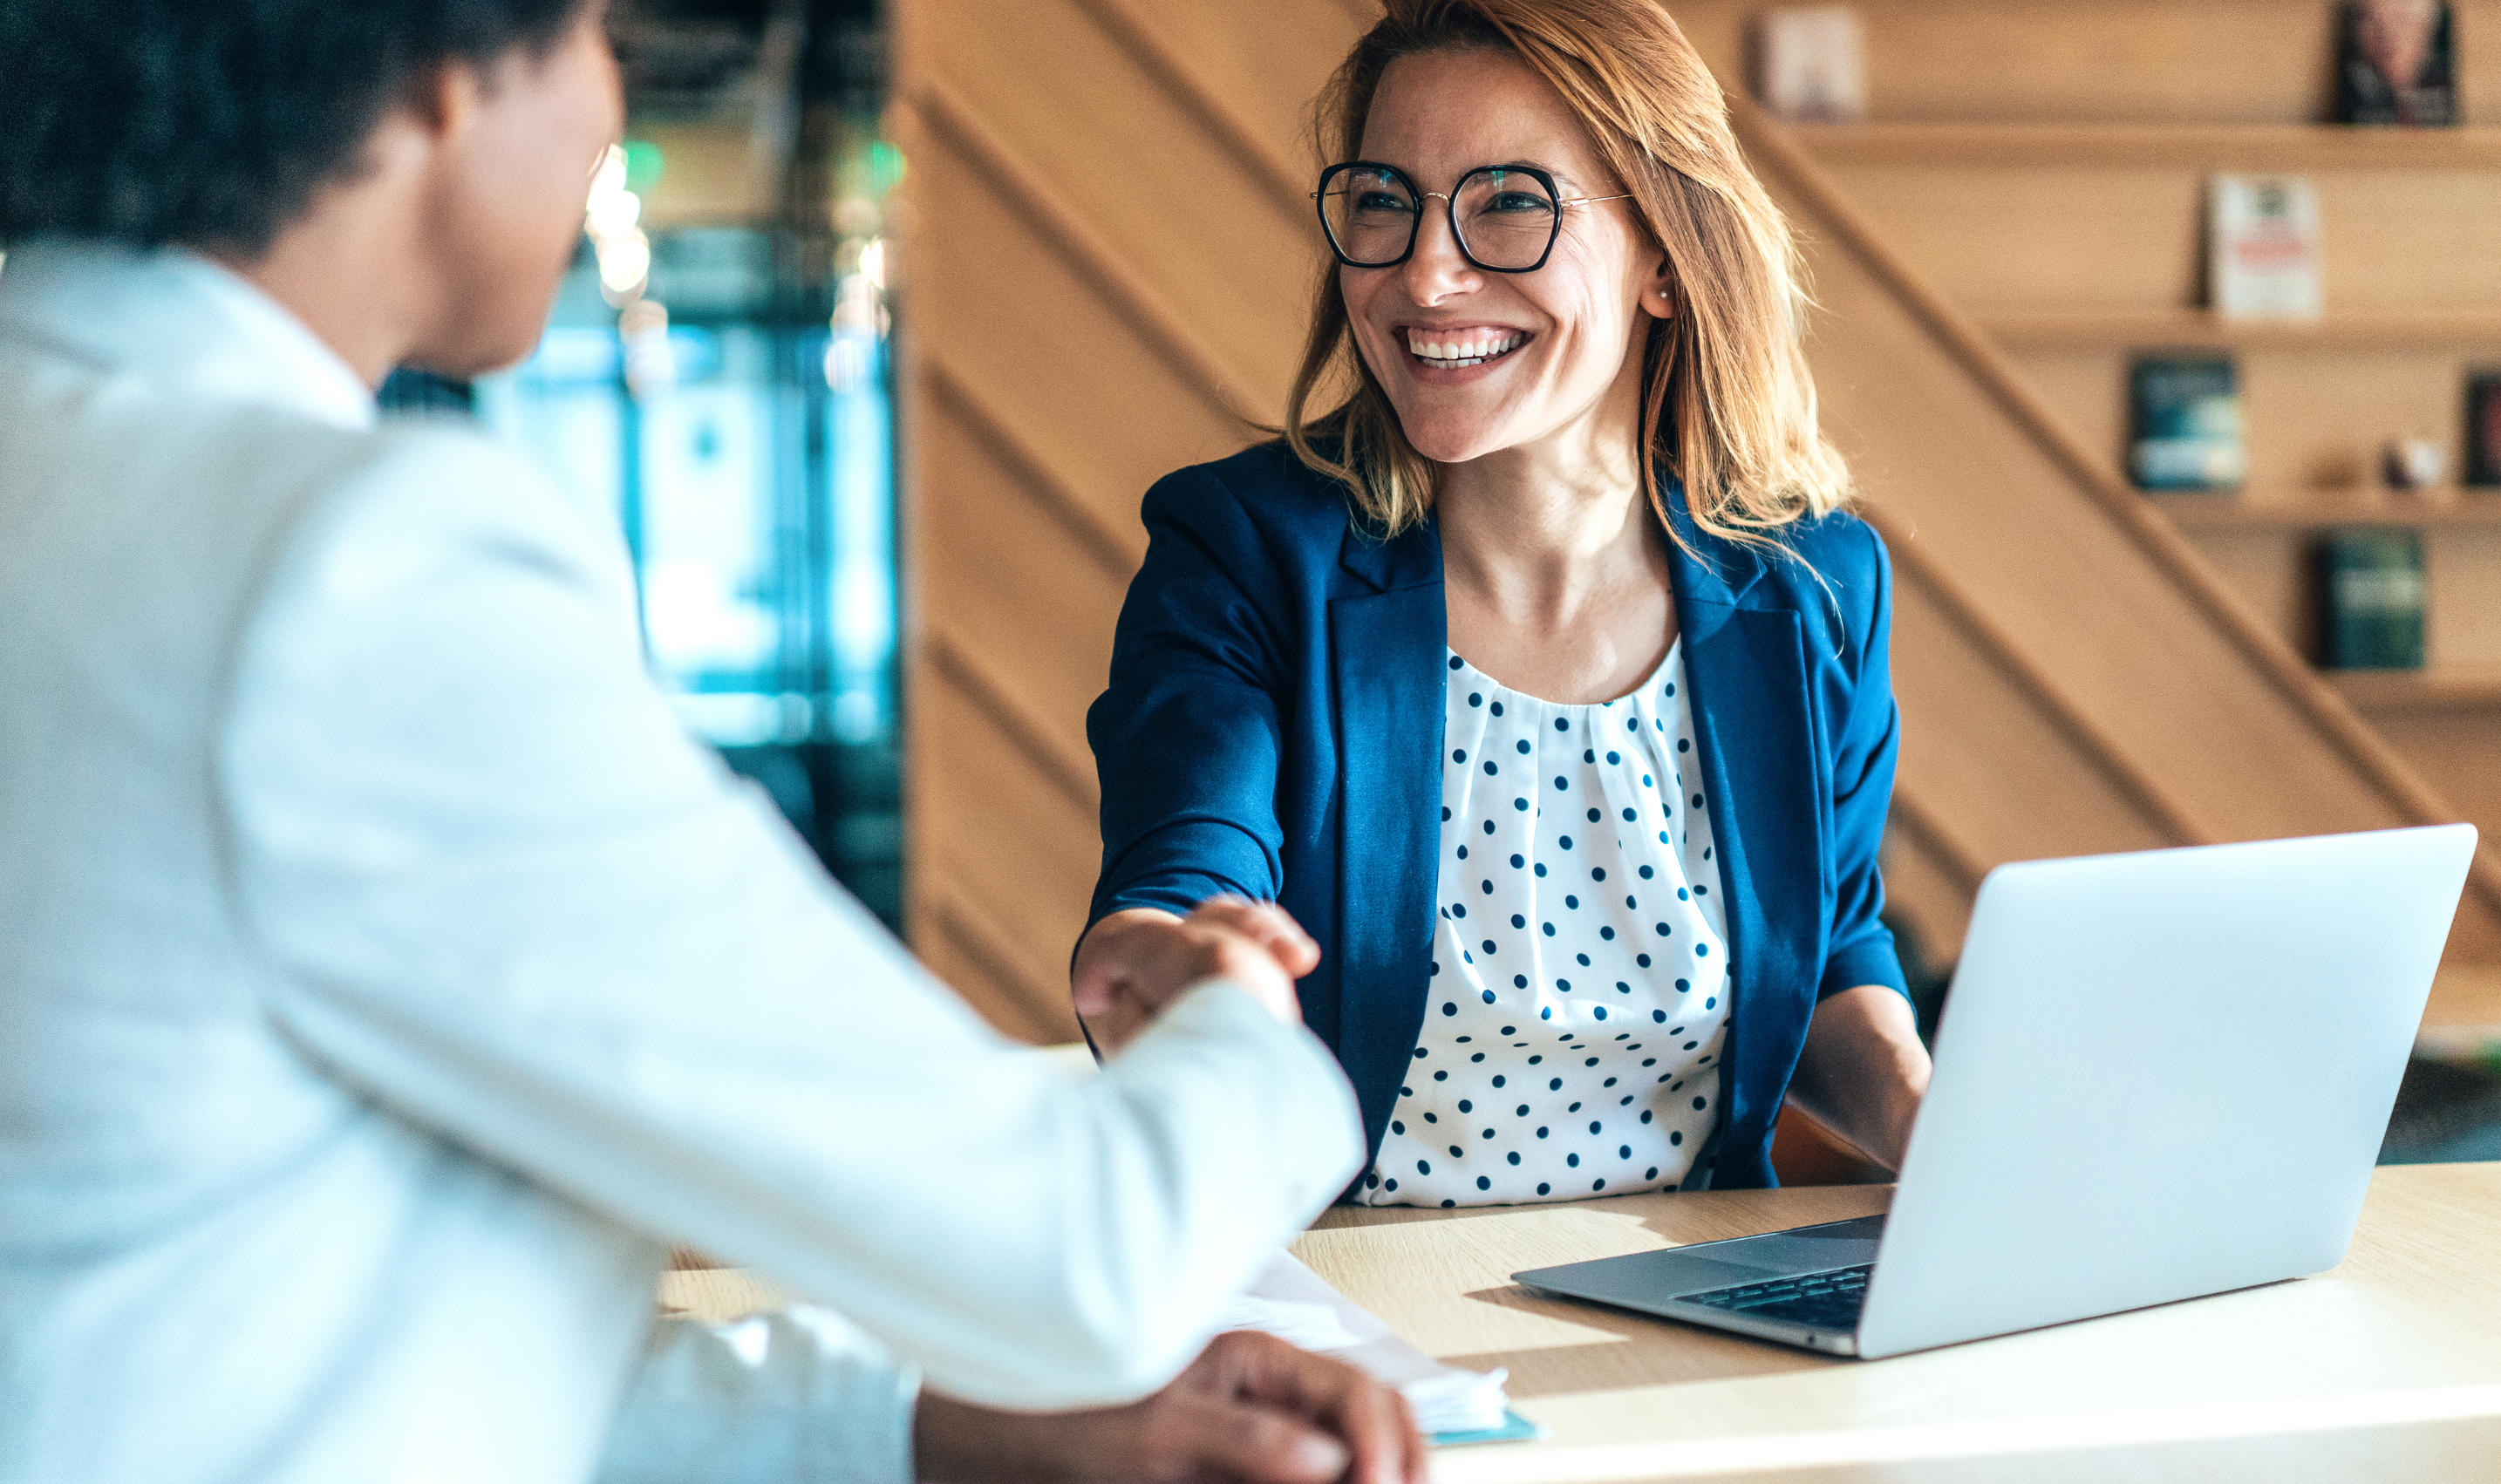
<instances>
[{"instance_id":1,"label":"black-framed eyeglasses on the smiling woman's face","mask_svg":"<svg viewBox=\"0 0 2501 1484\"><path fill-rule=\"evenodd\" d=\"M1451 205L1458 253L1486 273L1536 273L1563 235L1563 208L1626 195L1563 195L1533 165L1478 165L1451 190L1418 190L1398 165L1348 160L1321 173L1311 200L1321 208L1328 248L1348 268L1396 268L1416 255L1423 200Z\"/></svg>"}]
</instances>

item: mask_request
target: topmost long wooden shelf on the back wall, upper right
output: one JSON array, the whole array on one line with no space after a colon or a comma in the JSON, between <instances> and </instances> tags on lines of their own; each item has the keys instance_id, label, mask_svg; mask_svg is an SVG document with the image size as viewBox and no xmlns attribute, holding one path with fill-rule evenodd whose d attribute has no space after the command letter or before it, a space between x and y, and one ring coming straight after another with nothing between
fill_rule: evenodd
<instances>
[{"instance_id":1,"label":"topmost long wooden shelf on the back wall, upper right","mask_svg":"<svg viewBox=\"0 0 2501 1484\"><path fill-rule=\"evenodd\" d=\"M2423 170L2501 168L2496 128L2356 125L2136 125L2136 123L1858 123L1796 125L1828 165L2003 165L2103 168L2193 165L2208 170Z\"/></svg>"}]
</instances>

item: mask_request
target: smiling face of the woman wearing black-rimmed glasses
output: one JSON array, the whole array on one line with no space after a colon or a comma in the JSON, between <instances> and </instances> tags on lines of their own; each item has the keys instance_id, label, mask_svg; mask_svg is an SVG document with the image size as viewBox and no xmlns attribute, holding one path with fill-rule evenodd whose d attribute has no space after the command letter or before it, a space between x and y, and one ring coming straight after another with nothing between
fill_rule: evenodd
<instances>
[{"instance_id":1,"label":"smiling face of the woman wearing black-rimmed glasses","mask_svg":"<svg viewBox=\"0 0 2501 1484\"><path fill-rule=\"evenodd\" d=\"M1363 125L1363 158L1448 193L1478 165L1536 165L1563 200L1623 190L1563 98L1511 53L1398 58ZM1451 238L1441 195L1423 203L1416 253L1396 268L1338 268L1366 365L1418 453L1466 463L1571 433L1633 405L1641 338L1668 313L1666 258L1631 200L1563 208L1536 273L1486 273Z\"/></svg>"}]
</instances>

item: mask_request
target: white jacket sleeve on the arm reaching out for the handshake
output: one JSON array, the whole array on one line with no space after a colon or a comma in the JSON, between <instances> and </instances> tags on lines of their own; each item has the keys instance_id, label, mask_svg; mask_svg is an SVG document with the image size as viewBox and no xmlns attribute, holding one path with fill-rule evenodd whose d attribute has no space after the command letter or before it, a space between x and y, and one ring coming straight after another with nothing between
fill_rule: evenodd
<instances>
[{"instance_id":1,"label":"white jacket sleeve on the arm reaching out for the handshake","mask_svg":"<svg viewBox=\"0 0 2501 1484\"><path fill-rule=\"evenodd\" d=\"M965 1399L1178 1371L1356 1171L1328 1051L1225 983L1085 1081L990 1034L680 731L610 536L478 438L380 445L238 638L218 768L273 1019Z\"/></svg>"}]
</instances>

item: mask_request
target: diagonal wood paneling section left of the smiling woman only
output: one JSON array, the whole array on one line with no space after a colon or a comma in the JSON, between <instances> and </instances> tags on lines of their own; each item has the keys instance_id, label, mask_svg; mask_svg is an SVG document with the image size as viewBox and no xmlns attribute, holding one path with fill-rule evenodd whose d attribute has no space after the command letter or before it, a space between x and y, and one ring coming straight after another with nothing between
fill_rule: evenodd
<instances>
[{"instance_id":1,"label":"diagonal wood paneling section left of the smiling woman only","mask_svg":"<svg viewBox=\"0 0 2501 1484\"><path fill-rule=\"evenodd\" d=\"M1358 15L898 5L908 911L915 948L1013 1036L1075 1034L1065 966L1098 866L1083 721L1145 551L1138 498L1283 405L1318 243L1281 160ZM1238 90L1266 93L1243 110Z\"/></svg>"}]
</instances>

